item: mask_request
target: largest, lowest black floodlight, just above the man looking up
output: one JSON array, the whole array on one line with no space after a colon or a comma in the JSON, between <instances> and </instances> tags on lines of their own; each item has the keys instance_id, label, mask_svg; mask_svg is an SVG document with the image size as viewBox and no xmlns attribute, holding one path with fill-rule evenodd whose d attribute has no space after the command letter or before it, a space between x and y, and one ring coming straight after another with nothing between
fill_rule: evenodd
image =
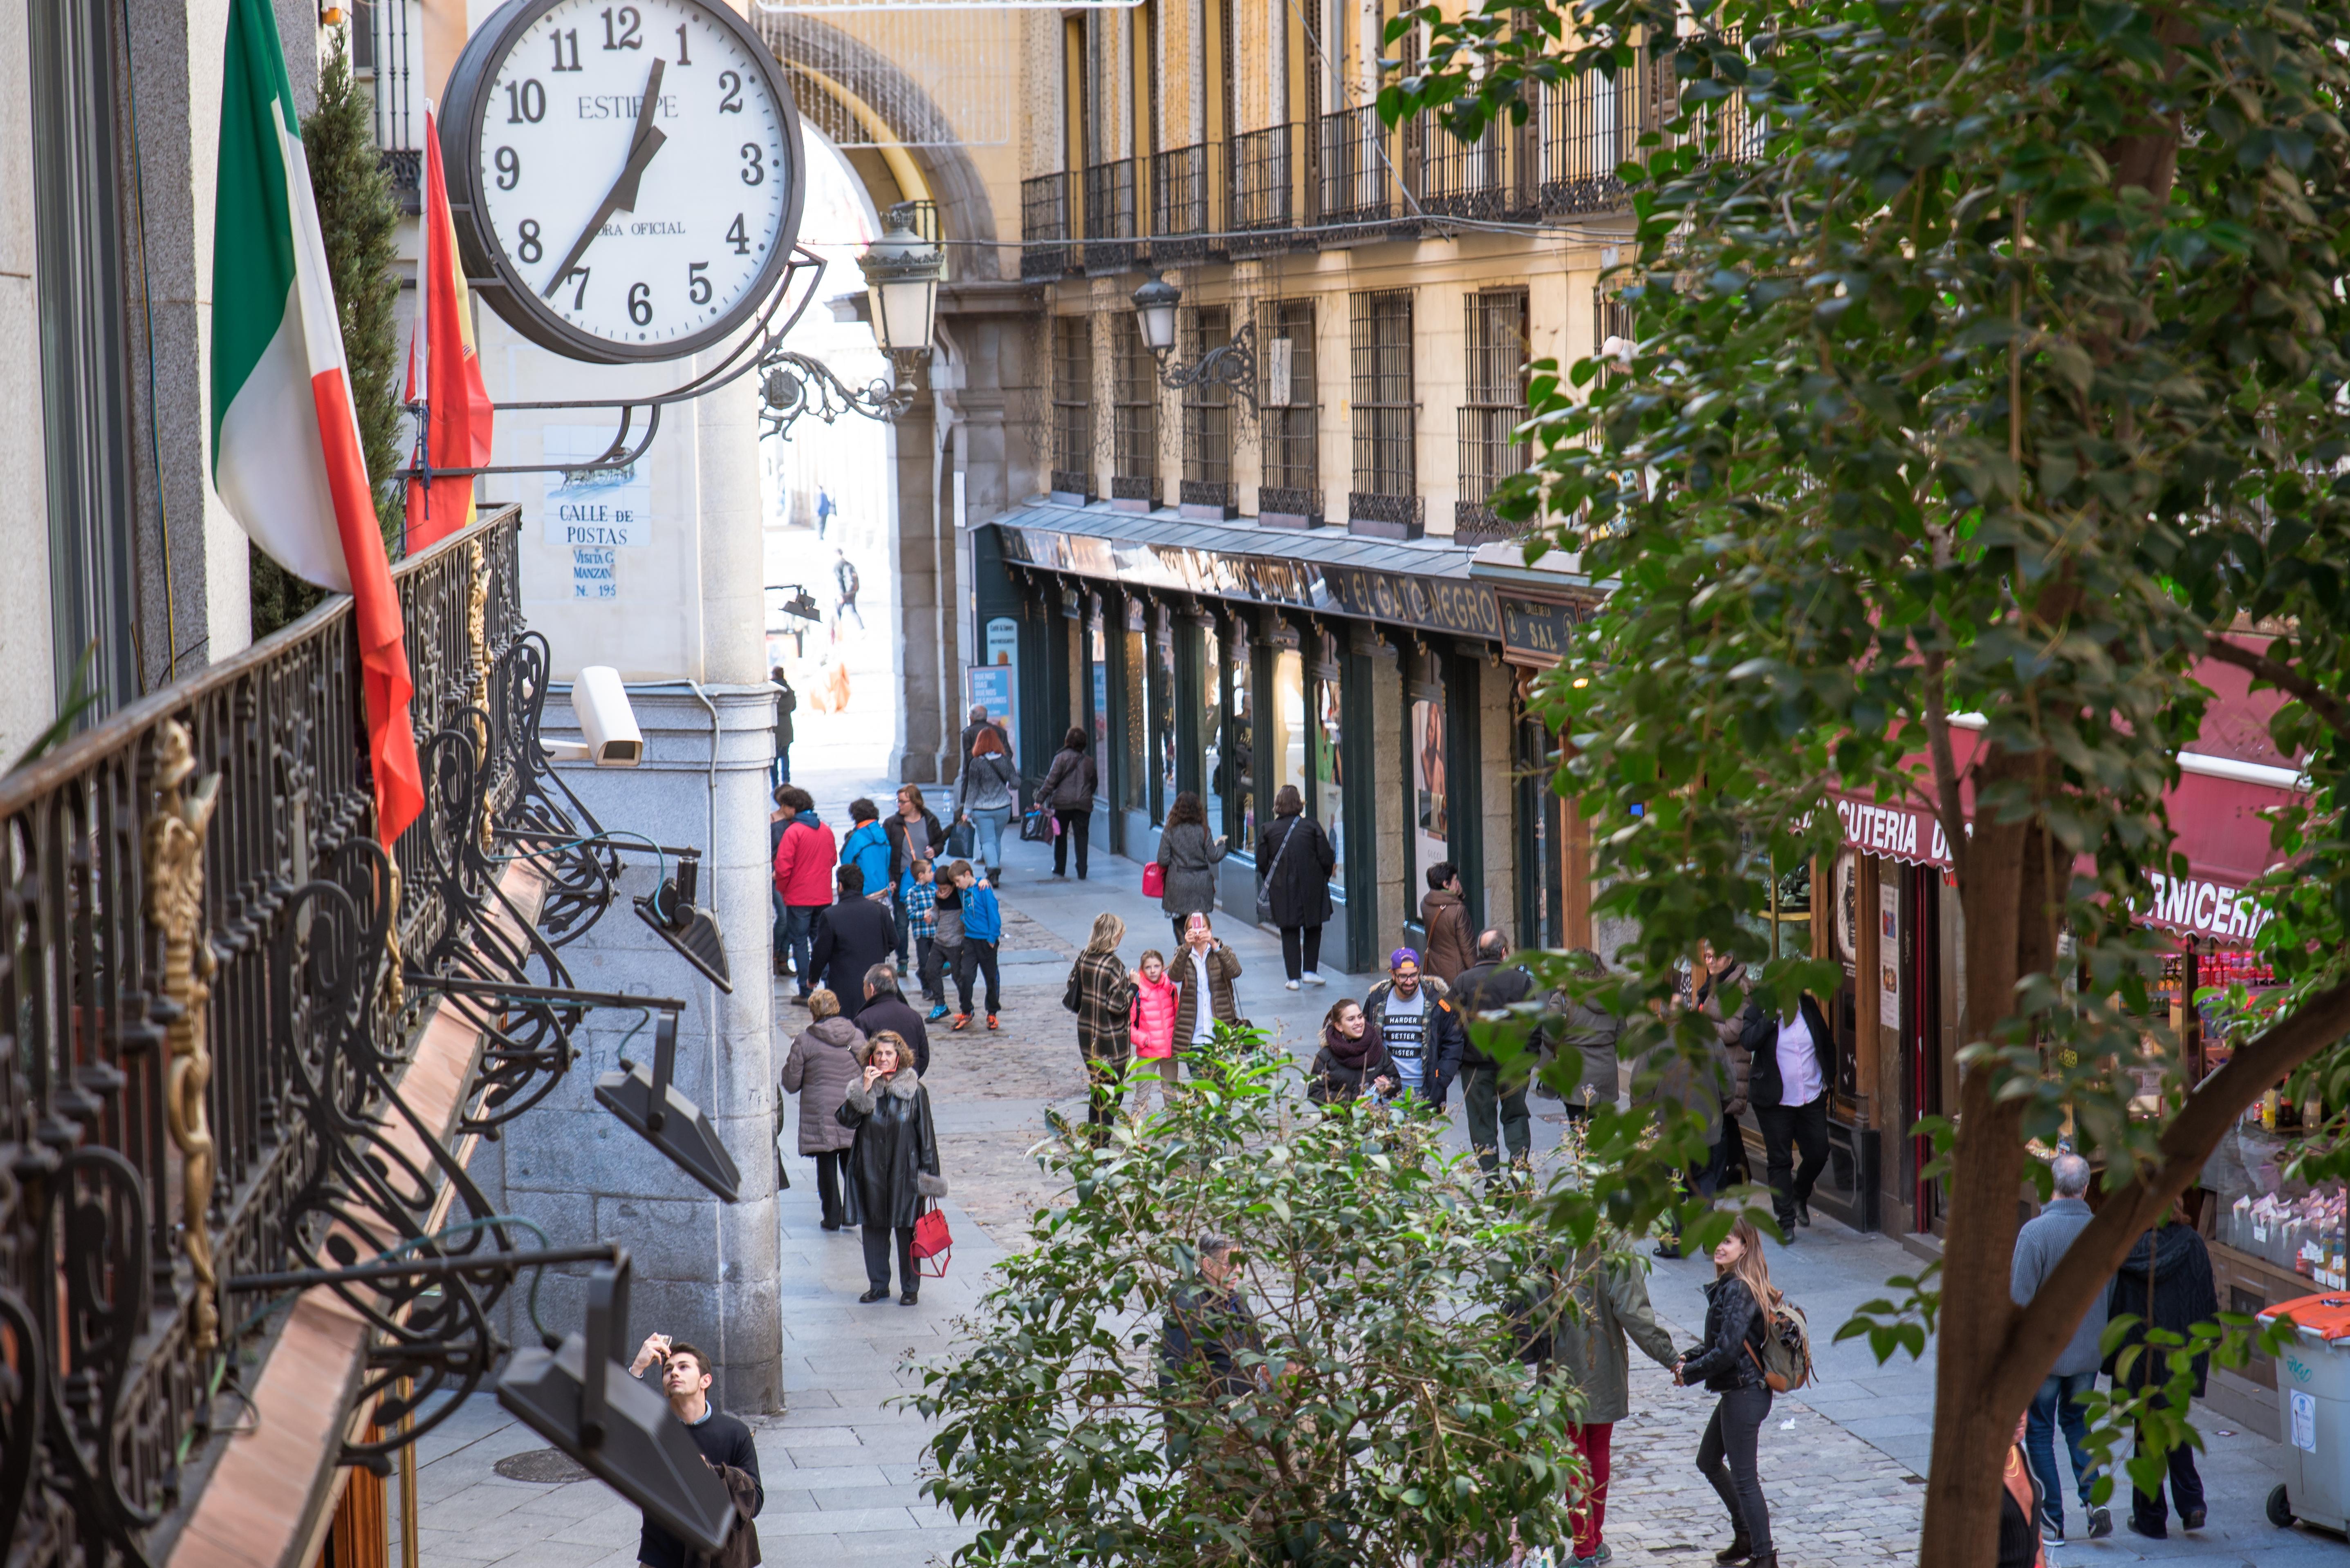
<instances>
[{"instance_id":1,"label":"largest, lowest black floodlight, just above the man looking up","mask_svg":"<svg viewBox=\"0 0 2350 1568\"><path fill-rule=\"evenodd\" d=\"M627 1376L627 1251L588 1279L588 1324L555 1350L517 1350L498 1404L700 1552L721 1552L736 1512L670 1401Z\"/></svg>"}]
</instances>

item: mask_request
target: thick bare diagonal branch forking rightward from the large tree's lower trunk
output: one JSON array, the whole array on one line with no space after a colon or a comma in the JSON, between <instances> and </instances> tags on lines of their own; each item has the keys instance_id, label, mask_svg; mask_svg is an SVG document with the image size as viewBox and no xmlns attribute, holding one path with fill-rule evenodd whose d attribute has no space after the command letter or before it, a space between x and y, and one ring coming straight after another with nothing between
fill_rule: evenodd
<instances>
[{"instance_id":1,"label":"thick bare diagonal branch forking rightward from the large tree's lower trunk","mask_svg":"<svg viewBox=\"0 0 2350 1568\"><path fill-rule=\"evenodd\" d=\"M2108 1192L2096 1218L2073 1237L2073 1246L2040 1284L2040 1293L2009 1324L2005 1354L1995 1361L1995 1408L2026 1406L2138 1235L2169 1214L2171 1202L2188 1190L2244 1106L2345 1033L2350 1033L2350 981L2319 991L2294 1016L2265 1028L2188 1096L2162 1129L2160 1164L2146 1178Z\"/></svg>"}]
</instances>

